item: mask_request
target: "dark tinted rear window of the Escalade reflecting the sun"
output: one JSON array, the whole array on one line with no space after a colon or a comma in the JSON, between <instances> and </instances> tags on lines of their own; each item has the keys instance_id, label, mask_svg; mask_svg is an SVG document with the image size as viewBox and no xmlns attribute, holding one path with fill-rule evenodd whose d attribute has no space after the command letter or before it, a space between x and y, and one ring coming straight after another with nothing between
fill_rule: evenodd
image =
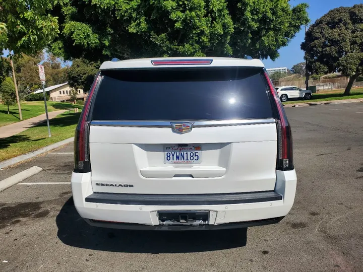
<instances>
[{"instance_id":1,"label":"dark tinted rear window of the Escalade reflecting the sun","mask_svg":"<svg viewBox=\"0 0 363 272\"><path fill-rule=\"evenodd\" d=\"M271 118L261 68L103 71L93 120Z\"/></svg>"}]
</instances>

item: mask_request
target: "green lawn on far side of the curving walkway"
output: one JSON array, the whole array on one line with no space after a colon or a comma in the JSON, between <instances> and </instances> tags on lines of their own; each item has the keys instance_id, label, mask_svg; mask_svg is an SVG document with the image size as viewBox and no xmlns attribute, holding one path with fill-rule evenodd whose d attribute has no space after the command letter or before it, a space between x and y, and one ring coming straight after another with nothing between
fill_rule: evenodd
<instances>
[{"instance_id":1,"label":"green lawn on far side of the curving walkway","mask_svg":"<svg viewBox=\"0 0 363 272\"><path fill-rule=\"evenodd\" d=\"M45 113L44 101L21 102L23 120L31 117L38 116ZM75 105L72 103L52 102L47 101L48 111L62 110L69 108L82 108L83 105ZM10 114L8 114L8 107L0 104L0 126L11 124L20 121L18 105L10 107Z\"/></svg>"}]
</instances>

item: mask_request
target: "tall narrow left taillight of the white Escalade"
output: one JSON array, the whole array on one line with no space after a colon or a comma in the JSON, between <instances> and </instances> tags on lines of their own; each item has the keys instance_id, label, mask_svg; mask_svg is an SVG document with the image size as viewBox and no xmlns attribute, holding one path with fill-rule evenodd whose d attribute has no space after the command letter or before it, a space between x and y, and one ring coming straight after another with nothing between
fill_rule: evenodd
<instances>
[{"instance_id":1,"label":"tall narrow left taillight of the white Escalade","mask_svg":"<svg viewBox=\"0 0 363 272\"><path fill-rule=\"evenodd\" d=\"M91 171L88 149L89 124L88 115L91 108L92 96L100 79L99 73L96 75L91 89L88 93L85 105L83 107L81 117L79 119L75 140L74 140L74 172L86 173Z\"/></svg>"}]
</instances>

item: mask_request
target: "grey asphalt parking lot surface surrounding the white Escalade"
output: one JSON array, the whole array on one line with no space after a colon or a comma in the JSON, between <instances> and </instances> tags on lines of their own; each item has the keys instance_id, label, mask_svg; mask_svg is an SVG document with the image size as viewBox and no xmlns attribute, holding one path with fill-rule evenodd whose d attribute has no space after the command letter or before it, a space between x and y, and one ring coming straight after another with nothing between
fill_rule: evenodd
<instances>
[{"instance_id":1,"label":"grey asphalt parking lot surface surrounding the white Escalade","mask_svg":"<svg viewBox=\"0 0 363 272\"><path fill-rule=\"evenodd\" d=\"M363 103L286 112L298 185L279 224L203 232L90 227L70 184L59 183L71 178L70 144L0 171L2 180L43 168L0 192L0 271L363 271Z\"/></svg>"}]
</instances>

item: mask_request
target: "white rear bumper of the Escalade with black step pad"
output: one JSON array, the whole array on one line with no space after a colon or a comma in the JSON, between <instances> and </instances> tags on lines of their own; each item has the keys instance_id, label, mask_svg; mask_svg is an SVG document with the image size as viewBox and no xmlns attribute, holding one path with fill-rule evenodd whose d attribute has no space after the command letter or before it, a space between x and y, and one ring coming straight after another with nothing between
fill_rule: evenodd
<instances>
[{"instance_id":1,"label":"white rear bumper of the Escalade with black step pad","mask_svg":"<svg viewBox=\"0 0 363 272\"><path fill-rule=\"evenodd\" d=\"M150 198L135 201L127 195L97 194L92 190L91 173L73 173L71 183L78 213L94 226L154 230L226 229L273 224L288 214L295 197L295 170L276 171L276 177L273 192L237 194L232 201L223 197L209 201L211 199L205 198L206 195L201 195L199 201L197 197L193 201L183 197L174 197L174 201L160 197L157 197L159 202L156 199L150 201ZM201 226L160 226L157 213L161 210L207 210L210 218L207 225Z\"/></svg>"}]
</instances>

